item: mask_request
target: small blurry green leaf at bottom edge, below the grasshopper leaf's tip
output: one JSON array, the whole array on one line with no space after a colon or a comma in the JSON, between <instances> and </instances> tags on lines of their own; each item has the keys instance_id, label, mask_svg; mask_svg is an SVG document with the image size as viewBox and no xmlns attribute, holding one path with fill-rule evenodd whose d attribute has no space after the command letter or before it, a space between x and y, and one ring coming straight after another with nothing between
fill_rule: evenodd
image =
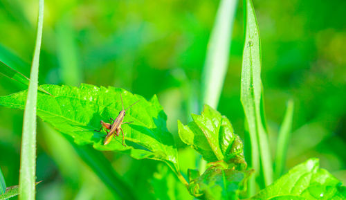
<instances>
[{"instance_id":1,"label":"small blurry green leaf at bottom edge, below the grasshopper leaf's tip","mask_svg":"<svg viewBox=\"0 0 346 200\"><path fill-rule=\"evenodd\" d=\"M152 183L156 199L193 199L188 190L186 190L185 185L179 181L172 170L170 170L166 165L158 165L158 170L153 174L150 183Z\"/></svg>"}]
</instances>

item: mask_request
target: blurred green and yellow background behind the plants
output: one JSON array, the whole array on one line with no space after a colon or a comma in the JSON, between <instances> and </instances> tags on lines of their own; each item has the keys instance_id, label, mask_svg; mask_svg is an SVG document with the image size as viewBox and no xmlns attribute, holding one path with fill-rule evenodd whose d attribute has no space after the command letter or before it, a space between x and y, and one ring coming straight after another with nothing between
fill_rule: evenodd
<instances>
[{"instance_id":1,"label":"blurred green and yellow background behind the plants","mask_svg":"<svg viewBox=\"0 0 346 200\"><path fill-rule=\"evenodd\" d=\"M158 95L176 135L176 120L198 113L201 71L219 1L46 1L39 84L81 82ZM262 82L275 149L286 102L293 98L287 169L309 157L346 182L346 1L253 1L262 40ZM0 60L29 75L38 1L0 1ZM228 72L218 110L243 136L240 73L244 44L238 3ZM26 89L0 76L0 95ZM23 111L0 109L0 167L19 180ZM194 165L176 137L185 165ZM37 199L114 199L60 134L39 121ZM272 153L275 156L275 152ZM154 199L158 163L106 152L138 196ZM192 155L193 157L193 155ZM183 159L182 159L183 160ZM156 173L156 174L155 174Z\"/></svg>"}]
</instances>

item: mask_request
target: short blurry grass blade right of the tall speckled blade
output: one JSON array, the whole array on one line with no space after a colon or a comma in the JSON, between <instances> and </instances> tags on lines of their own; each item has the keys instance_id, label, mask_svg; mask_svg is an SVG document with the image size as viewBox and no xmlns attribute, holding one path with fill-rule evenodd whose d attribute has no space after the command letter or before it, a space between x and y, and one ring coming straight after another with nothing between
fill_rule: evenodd
<instances>
[{"instance_id":1,"label":"short blurry grass blade right of the tall speckled blade","mask_svg":"<svg viewBox=\"0 0 346 200\"><path fill-rule=\"evenodd\" d=\"M284 115L284 120L280 127L279 136L277 138L276 156L275 156L275 179L279 178L284 172L286 163L286 154L289 147L289 139L292 133L293 121L293 100L287 102L287 109Z\"/></svg>"}]
</instances>

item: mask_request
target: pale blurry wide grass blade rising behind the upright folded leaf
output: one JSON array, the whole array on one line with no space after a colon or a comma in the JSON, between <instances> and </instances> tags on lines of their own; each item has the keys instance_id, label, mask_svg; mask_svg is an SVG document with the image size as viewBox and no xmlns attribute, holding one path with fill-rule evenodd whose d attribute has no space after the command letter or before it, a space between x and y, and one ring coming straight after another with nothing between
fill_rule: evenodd
<instances>
[{"instance_id":1,"label":"pale blurry wide grass blade rising behind the upright folded leaf","mask_svg":"<svg viewBox=\"0 0 346 200\"><path fill-rule=\"evenodd\" d=\"M237 0L221 0L202 73L202 103L217 109L228 67ZM201 107L201 106L200 106Z\"/></svg>"}]
</instances>

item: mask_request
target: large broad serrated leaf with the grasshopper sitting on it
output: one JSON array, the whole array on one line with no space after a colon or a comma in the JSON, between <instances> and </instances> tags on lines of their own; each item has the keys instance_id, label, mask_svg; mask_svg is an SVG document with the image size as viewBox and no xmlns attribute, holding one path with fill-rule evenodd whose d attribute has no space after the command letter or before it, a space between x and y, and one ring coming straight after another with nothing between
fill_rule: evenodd
<instances>
[{"instance_id":1,"label":"large broad serrated leaf with the grasshopper sitting on it","mask_svg":"<svg viewBox=\"0 0 346 200\"><path fill-rule=\"evenodd\" d=\"M37 115L50 123L58 131L74 138L78 145L92 144L101 151L121 151L137 159L151 158L165 161L170 167L179 169L177 151L172 134L167 130L163 108L156 96L147 101L142 96L114 87L95 87L81 84L80 88L69 86L43 85L46 91L38 94ZM122 134L103 145L104 131L100 129L100 120L108 122L116 118L122 109L120 93L124 107L137 104L126 111L122 125L127 147L122 145ZM24 108L26 91L0 97L0 104L10 108Z\"/></svg>"}]
</instances>

